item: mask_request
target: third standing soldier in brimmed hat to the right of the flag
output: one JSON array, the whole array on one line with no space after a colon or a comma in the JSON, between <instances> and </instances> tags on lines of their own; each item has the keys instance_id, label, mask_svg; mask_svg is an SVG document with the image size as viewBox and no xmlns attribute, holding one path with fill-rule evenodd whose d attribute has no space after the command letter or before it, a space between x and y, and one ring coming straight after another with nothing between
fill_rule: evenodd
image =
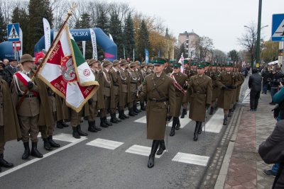
<instances>
[{"instance_id":1,"label":"third standing soldier in brimmed hat to the right of the flag","mask_svg":"<svg viewBox=\"0 0 284 189\"><path fill-rule=\"evenodd\" d=\"M121 81L121 79L119 78L119 68L120 68L119 60L116 59L114 60L114 62L112 62L112 67L109 71L112 79L111 80L112 81L111 122L113 123L121 122L120 119L116 118L116 108L119 107L119 98L121 98L121 96L119 96L119 82Z\"/></svg>"}]
</instances>

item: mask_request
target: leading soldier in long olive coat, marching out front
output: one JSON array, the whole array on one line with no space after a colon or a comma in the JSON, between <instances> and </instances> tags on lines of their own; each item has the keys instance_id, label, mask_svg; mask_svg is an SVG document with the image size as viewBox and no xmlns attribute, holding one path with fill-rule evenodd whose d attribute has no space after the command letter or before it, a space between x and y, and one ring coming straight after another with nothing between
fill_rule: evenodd
<instances>
[{"instance_id":1,"label":"leading soldier in long olive coat, marching out front","mask_svg":"<svg viewBox=\"0 0 284 189\"><path fill-rule=\"evenodd\" d=\"M153 139L148 168L154 166L155 153L165 136L166 121L170 120L175 107L175 88L173 79L165 74L165 59L153 57L155 74L146 76L143 84L141 98L147 96L146 118L147 138ZM170 108L169 108L170 106Z\"/></svg>"}]
</instances>

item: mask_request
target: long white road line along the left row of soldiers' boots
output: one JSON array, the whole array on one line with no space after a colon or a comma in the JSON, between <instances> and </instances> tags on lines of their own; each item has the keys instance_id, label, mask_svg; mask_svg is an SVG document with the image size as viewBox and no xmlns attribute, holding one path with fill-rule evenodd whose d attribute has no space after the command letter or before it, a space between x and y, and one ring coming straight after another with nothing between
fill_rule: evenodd
<instances>
[{"instance_id":1,"label":"long white road line along the left row of soldiers' boots","mask_svg":"<svg viewBox=\"0 0 284 189\"><path fill-rule=\"evenodd\" d=\"M17 170L20 169L20 168L23 168L23 167L25 167L25 166L31 165L31 164L35 163L36 161L40 161L40 160L42 160L42 159L47 158L48 156L51 156L51 155L53 155L53 154L56 154L56 153L58 153L59 151L62 151L62 150L67 149L67 148L69 148L69 147L72 147L72 146L74 146L75 144L78 144L79 142L84 141L85 139L87 139L87 137L82 137L81 139L76 139L75 142L72 142L72 143L70 143L70 144L65 145L64 147L60 147L60 148L58 148L58 149L55 149L55 150L53 150L53 151L48 152L47 154L44 154L44 155L43 155L43 158L35 158L35 159L30 160L30 161L27 161L27 162L24 163L24 164L18 165L18 166L13 167L13 168L10 168L9 170L0 173L0 178L1 178L2 176L8 175L9 173L13 173L14 171L17 171Z\"/></svg>"}]
</instances>

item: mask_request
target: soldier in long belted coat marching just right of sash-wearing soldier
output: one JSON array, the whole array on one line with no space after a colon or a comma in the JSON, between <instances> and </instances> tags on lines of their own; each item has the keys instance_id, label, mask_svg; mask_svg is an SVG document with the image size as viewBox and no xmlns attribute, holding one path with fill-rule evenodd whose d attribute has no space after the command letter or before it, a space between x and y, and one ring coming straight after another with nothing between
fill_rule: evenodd
<instances>
[{"instance_id":1,"label":"soldier in long belted coat marching just right of sash-wearing soldier","mask_svg":"<svg viewBox=\"0 0 284 189\"><path fill-rule=\"evenodd\" d=\"M189 82L191 93L190 119L195 120L195 133L193 140L197 141L198 134L202 132L202 122L205 120L206 110L212 98L212 81L204 74L204 64L198 64L197 75L192 76Z\"/></svg>"}]
</instances>

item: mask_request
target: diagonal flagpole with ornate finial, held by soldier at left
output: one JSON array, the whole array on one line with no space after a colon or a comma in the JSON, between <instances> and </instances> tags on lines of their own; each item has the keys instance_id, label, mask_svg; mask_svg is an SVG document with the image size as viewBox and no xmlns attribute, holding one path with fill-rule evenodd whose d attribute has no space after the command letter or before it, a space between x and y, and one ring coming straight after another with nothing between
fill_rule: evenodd
<instances>
[{"instance_id":1,"label":"diagonal flagpole with ornate finial, held by soldier at left","mask_svg":"<svg viewBox=\"0 0 284 189\"><path fill-rule=\"evenodd\" d=\"M67 12L67 16L65 18L64 23L61 25L61 28L58 32L58 35L56 35L55 40L53 40L53 43L50 45L50 48L48 49L48 52L46 53L45 57L43 57L43 62L40 62L40 64L38 65L38 68L35 70L35 74L33 74L31 81L34 80L35 76L38 74L38 71L40 70L40 67L43 65L43 63L45 63L47 61L47 58L49 57L51 50L53 49L53 46L55 45L55 41L58 41L59 34L65 28L65 25L66 25L68 19L70 18L70 16L72 16L72 11L75 11L76 6L77 6L76 4L72 4L71 10ZM18 103L16 105L16 109L19 108L21 106L21 104L23 103L23 99L25 98L26 93L28 93L28 87L26 87L25 91L23 92L23 96L21 96L20 101L18 101Z\"/></svg>"}]
</instances>

